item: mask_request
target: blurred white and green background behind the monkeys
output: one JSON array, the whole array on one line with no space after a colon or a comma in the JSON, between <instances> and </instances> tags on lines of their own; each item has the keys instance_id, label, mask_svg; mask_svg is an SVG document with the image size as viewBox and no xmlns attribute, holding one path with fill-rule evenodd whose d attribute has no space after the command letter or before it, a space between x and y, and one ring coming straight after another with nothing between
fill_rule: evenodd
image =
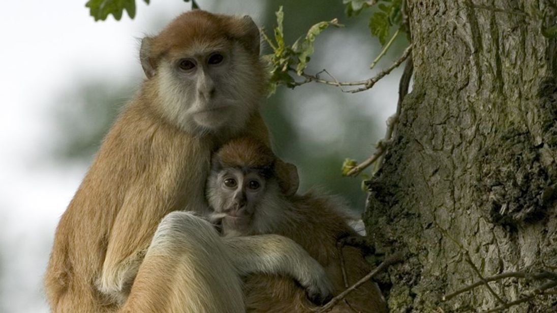
<instances>
[{"instance_id":1,"label":"blurred white and green background behind the monkeys","mask_svg":"<svg viewBox=\"0 0 557 313\"><path fill-rule=\"evenodd\" d=\"M53 233L102 136L134 95L143 72L139 38L154 35L191 4L137 0L137 13L94 22L86 0L6 1L0 11L0 312L47 312L41 279ZM368 29L369 12L348 18L342 0L198 0L212 12L249 14L268 33L284 6L291 44L320 21L345 28L317 38L308 73L328 70L339 81L368 79L398 57L395 43L373 71L380 45ZM263 48L264 53L270 52ZM345 94L337 87L278 87L261 104L275 150L296 164L301 190L319 187L364 207L361 178L343 178L345 158L368 158L395 111L402 68L372 90ZM368 171L369 172L369 171Z\"/></svg>"}]
</instances>

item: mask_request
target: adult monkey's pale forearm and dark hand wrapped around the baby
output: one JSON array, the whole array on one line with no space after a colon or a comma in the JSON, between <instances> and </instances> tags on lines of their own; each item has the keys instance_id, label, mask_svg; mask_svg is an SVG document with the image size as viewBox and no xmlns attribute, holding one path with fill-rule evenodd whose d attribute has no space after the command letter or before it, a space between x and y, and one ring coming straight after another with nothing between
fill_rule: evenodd
<instances>
[{"instance_id":1,"label":"adult monkey's pale forearm and dark hand wrapped around the baby","mask_svg":"<svg viewBox=\"0 0 557 313\"><path fill-rule=\"evenodd\" d=\"M278 273L293 277L317 303L324 303L333 295L333 285L323 266L292 239L276 234L223 239L240 275Z\"/></svg>"}]
</instances>

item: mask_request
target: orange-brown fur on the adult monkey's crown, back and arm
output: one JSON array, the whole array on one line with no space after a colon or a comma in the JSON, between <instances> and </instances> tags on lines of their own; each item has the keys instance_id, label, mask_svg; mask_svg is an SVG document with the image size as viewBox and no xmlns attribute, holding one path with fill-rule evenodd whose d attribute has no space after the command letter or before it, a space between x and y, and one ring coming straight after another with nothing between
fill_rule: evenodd
<instances>
[{"instance_id":1,"label":"orange-brown fur on the adult monkey's crown, back and arm","mask_svg":"<svg viewBox=\"0 0 557 313\"><path fill-rule=\"evenodd\" d=\"M249 45L237 36L242 33L241 26L229 18L203 11L183 14L154 38L153 59L149 62L156 67L192 38L238 40ZM252 88L257 98L265 79L257 56L253 56L252 65L256 69L246 85L253 85L237 87ZM118 311L120 305L97 288L102 271L116 272L128 263L138 266L159 221L169 212L188 209L206 213L204 182L211 153L223 140L238 133L224 130L201 136L173 124L164 112L157 79L154 75L143 83L115 122L61 217L45 275L46 296L53 312ZM268 142L256 106L242 133ZM141 267L140 272L164 273L156 266ZM171 272L162 276L172 280ZM150 283L154 288L161 282ZM164 298L165 292L172 290L158 292L157 296Z\"/></svg>"}]
</instances>

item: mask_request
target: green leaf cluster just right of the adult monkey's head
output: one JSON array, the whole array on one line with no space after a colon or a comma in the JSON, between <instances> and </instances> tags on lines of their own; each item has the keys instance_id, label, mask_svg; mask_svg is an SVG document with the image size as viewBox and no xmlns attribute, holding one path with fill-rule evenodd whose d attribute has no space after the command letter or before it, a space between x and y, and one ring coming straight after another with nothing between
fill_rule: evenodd
<instances>
[{"instance_id":1,"label":"green leaf cluster just right of the adult monkey's head","mask_svg":"<svg viewBox=\"0 0 557 313\"><path fill-rule=\"evenodd\" d=\"M270 77L270 90L269 94L273 94L276 86L284 84L287 87L296 86L294 77L290 75L290 71L296 71L297 75L302 75L302 72L307 67L307 63L314 53L314 42L317 36L329 26L342 27L335 18L328 22L319 22L311 26L307 31L306 36L298 38L291 46L286 45L284 41L283 21L284 12L282 6L276 12L277 26L273 29L274 38L271 40L262 31L263 38L272 48L273 53L266 55L265 58L271 65Z\"/></svg>"}]
</instances>

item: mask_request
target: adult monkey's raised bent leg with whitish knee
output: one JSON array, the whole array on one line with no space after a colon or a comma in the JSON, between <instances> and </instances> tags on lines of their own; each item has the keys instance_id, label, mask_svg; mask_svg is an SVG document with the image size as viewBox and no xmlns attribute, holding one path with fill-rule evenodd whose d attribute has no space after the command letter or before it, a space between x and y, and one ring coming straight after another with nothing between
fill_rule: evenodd
<instances>
[{"instance_id":1,"label":"adult monkey's raised bent leg with whitish knee","mask_svg":"<svg viewBox=\"0 0 557 313\"><path fill-rule=\"evenodd\" d=\"M160 222L120 313L244 313L242 282L211 224L191 212Z\"/></svg>"}]
</instances>

